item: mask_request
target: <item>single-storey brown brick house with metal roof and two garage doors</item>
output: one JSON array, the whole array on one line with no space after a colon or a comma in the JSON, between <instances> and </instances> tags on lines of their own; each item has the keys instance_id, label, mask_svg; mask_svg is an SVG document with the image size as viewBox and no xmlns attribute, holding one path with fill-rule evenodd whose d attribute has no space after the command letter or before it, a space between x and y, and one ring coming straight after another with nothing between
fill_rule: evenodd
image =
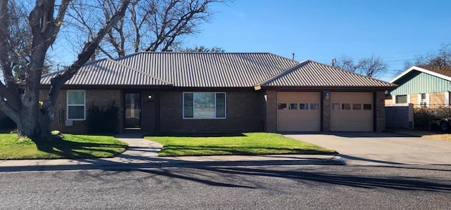
<instances>
[{"instance_id":1,"label":"single-storey brown brick house with metal roof and two garage doors","mask_svg":"<svg viewBox=\"0 0 451 210\"><path fill-rule=\"evenodd\" d=\"M42 76L42 97L50 79ZM382 131L395 85L271 53L143 52L84 65L52 129L84 133L89 105L121 108L118 132Z\"/></svg>"}]
</instances>

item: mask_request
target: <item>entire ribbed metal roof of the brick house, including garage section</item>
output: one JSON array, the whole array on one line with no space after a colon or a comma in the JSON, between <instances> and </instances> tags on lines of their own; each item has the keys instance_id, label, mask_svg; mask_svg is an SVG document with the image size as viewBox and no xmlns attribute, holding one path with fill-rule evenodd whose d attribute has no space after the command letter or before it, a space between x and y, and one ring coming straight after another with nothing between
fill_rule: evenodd
<instances>
[{"instance_id":1,"label":"entire ribbed metal roof of the brick house, including garage section","mask_svg":"<svg viewBox=\"0 0 451 210\"><path fill-rule=\"evenodd\" d=\"M44 74L42 84L60 72ZM393 86L310 60L271 53L142 52L82 66L70 85L92 86Z\"/></svg>"}]
</instances>

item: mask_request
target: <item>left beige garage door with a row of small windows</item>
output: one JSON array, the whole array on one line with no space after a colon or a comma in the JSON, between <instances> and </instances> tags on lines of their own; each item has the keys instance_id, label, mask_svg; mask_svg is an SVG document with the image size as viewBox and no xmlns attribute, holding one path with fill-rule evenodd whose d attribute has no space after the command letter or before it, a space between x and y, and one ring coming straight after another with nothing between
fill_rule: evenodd
<instances>
[{"instance_id":1,"label":"left beige garage door with a row of small windows","mask_svg":"<svg viewBox=\"0 0 451 210\"><path fill-rule=\"evenodd\" d=\"M317 92L278 92L278 131L320 131L321 94Z\"/></svg>"}]
</instances>

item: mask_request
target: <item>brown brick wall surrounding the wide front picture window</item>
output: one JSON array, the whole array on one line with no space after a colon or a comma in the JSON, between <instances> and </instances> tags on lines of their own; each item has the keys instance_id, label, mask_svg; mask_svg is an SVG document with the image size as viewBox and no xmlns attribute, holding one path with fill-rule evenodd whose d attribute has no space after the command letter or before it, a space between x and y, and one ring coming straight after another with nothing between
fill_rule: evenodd
<instances>
[{"instance_id":1,"label":"brown brick wall surrounding the wide front picture window","mask_svg":"<svg viewBox=\"0 0 451 210\"><path fill-rule=\"evenodd\" d=\"M261 94L256 91L227 91L226 119L183 119L183 92L159 93L161 131L261 131Z\"/></svg>"}]
</instances>

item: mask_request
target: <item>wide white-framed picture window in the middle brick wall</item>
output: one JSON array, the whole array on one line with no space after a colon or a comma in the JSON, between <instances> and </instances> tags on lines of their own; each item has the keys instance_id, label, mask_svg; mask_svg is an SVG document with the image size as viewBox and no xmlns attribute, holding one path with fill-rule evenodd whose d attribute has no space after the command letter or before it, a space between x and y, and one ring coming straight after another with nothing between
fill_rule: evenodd
<instances>
[{"instance_id":1,"label":"wide white-framed picture window in the middle brick wall","mask_svg":"<svg viewBox=\"0 0 451 210\"><path fill-rule=\"evenodd\" d=\"M183 93L183 118L226 118L226 93Z\"/></svg>"}]
</instances>

